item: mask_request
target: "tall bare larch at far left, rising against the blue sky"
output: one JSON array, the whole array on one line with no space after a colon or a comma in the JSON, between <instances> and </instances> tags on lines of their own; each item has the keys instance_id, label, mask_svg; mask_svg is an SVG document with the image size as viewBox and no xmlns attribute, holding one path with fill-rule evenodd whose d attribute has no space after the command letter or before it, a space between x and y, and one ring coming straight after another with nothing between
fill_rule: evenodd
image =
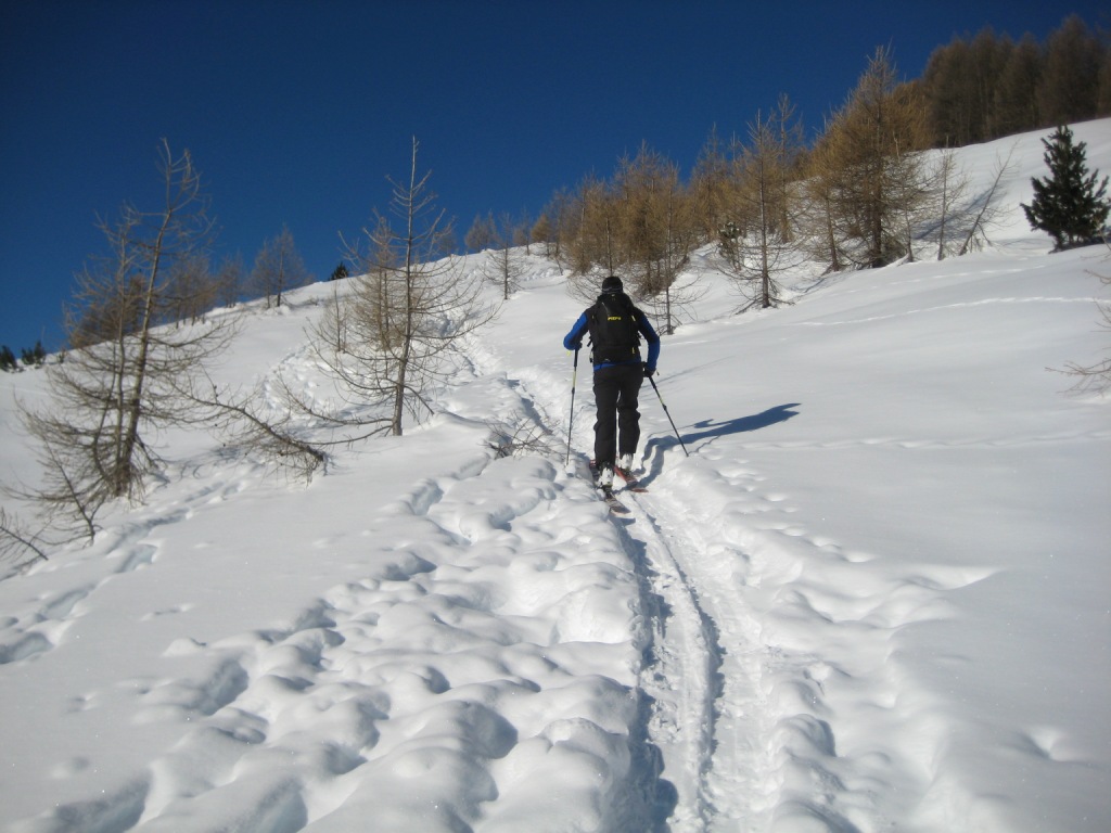
<instances>
[{"instance_id":1,"label":"tall bare larch at far left, rising against the blue sky","mask_svg":"<svg viewBox=\"0 0 1111 833\"><path fill-rule=\"evenodd\" d=\"M164 198L158 209L126 205L116 225L101 222L111 254L78 275L67 310L70 349L47 370L48 404L21 405L46 478L27 496L49 525L76 524L89 538L104 503L141 496L159 464L149 434L201 418L183 391L234 332L227 317L164 325L198 309L192 293L211 299L211 284L194 280L211 222L189 152L174 158L163 141L159 170Z\"/></svg>"}]
</instances>

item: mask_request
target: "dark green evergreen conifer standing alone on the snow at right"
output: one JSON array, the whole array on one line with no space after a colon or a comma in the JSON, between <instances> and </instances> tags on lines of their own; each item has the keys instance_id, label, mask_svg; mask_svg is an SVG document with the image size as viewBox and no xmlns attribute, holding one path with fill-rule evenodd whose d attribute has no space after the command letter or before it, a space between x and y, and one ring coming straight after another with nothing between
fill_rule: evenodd
<instances>
[{"instance_id":1,"label":"dark green evergreen conifer standing alone on the snow at right","mask_svg":"<svg viewBox=\"0 0 1111 833\"><path fill-rule=\"evenodd\" d=\"M1059 127L1042 144L1050 177L1031 180L1034 198L1022 204L1030 228L1048 232L1054 251L1097 242L1111 211L1104 199L1108 178L1098 182L1099 171L1088 172L1087 145L1073 144L1068 127Z\"/></svg>"}]
</instances>

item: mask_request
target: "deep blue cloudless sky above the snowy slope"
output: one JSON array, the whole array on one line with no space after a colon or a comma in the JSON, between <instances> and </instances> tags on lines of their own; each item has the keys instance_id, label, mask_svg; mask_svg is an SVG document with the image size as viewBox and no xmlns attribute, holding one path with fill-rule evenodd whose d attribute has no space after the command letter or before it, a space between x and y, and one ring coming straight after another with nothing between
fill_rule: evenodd
<instances>
[{"instance_id":1,"label":"deep blue cloudless sky above the snowy slope","mask_svg":"<svg viewBox=\"0 0 1111 833\"><path fill-rule=\"evenodd\" d=\"M0 0L0 344L60 345L94 228L157 208L160 140L192 151L250 268L288 225L327 279L387 211L412 137L460 240L537 213L642 141L685 177L712 126L780 93L813 130L879 46L905 78L984 26L1039 41L1088 0ZM1102 17L1101 17L1102 16Z\"/></svg>"}]
</instances>

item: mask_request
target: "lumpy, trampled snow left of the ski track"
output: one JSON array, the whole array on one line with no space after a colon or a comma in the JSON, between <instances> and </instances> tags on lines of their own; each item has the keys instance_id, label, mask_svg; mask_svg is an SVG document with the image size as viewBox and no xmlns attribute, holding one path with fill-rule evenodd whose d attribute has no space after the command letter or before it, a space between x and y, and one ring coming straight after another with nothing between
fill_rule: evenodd
<instances>
[{"instance_id":1,"label":"lumpy, trampled snow left of the ski track","mask_svg":"<svg viewBox=\"0 0 1111 833\"><path fill-rule=\"evenodd\" d=\"M40 802L87 797L12 829L457 831L482 819L489 831L590 830L645 819L657 773L632 743L637 580L603 508L582 483L556 481L543 460L483 458L423 480L367 518L359 578L284 625L179 636L159 675L60 703L63 724L110 700L140 737L173 740L150 744L141 765L111 747L52 762ZM130 570L170 558L138 540L109 556ZM48 649L80 650L80 605L117 581L28 600L4 629L21 634L8 671L37 654L49 663ZM31 694L9 690L9 715ZM52 694L36 693L40 710ZM37 740L6 735L29 750Z\"/></svg>"}]
</instances>

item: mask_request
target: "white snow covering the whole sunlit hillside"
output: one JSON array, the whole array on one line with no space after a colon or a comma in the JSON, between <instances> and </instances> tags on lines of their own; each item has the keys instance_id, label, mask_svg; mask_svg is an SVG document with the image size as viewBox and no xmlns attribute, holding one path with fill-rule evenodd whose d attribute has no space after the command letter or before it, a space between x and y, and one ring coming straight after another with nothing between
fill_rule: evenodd
<instances>
[{"instance_id":1,"label":"white snow covering the whole sunlit hillside","mask_svg":"<svg viewBox=\"0 0 1111 833\"><path fill-rule=\"evenodd\" d=\"M1111 260L1022 219L1045 134L959 151L1013 152L982 252L734 317L701 251L658 377L690 456L645 385L628 519L564 468L580 302L534 254L439 413L311 484L160 438L141 506L0 581L0 827L1108 830L1109 403L1048 369L1105 354ZM331 289L222 378L312 384ZM6 482L42 375L0 374ZM574 409L581 472L582 369Z\"/></svg>"}]
</instances>

